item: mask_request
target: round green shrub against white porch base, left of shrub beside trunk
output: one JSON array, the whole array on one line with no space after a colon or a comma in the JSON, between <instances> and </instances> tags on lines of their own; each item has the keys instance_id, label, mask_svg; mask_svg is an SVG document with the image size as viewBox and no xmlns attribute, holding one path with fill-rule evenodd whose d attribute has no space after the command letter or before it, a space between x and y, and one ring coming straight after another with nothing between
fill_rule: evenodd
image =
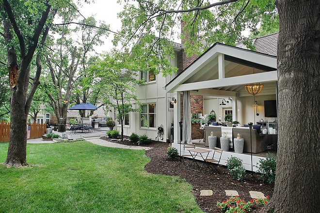
<instances>
[{"instance_id":1,"label":"round green shrub against white porch base, left of shrub beside trunk","mask_svg":"<svg viewBox=\"0 0 320 213\"><path fill-rule=\"evenodd\" d=\"M242 165L242 160L238 157L228 157L226 166L229 170L229 174L235 180L242 181L245 174L245 168Z\"/></svg>"}]
</instances>

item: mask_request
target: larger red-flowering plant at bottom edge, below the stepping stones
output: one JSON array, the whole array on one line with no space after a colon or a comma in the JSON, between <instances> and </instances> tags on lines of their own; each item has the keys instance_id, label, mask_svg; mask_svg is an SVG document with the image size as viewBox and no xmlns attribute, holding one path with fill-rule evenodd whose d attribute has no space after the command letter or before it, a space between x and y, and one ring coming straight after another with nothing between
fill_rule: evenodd
<instances>
[{"instance_id":1,"label":"larger red-flowering plant at bottom edge, below the stepping stones","mask_svg":"<svg viewBox=\"0 0 320 213\"><path fill-rule=\"evenodd\" d=\"M251 210L250 206L253 202L245 202L237 197L231 197L226 201L217 202L217 207L221 211L226 211L225 213L246 213Z\"/></svg>"}]
</instances>

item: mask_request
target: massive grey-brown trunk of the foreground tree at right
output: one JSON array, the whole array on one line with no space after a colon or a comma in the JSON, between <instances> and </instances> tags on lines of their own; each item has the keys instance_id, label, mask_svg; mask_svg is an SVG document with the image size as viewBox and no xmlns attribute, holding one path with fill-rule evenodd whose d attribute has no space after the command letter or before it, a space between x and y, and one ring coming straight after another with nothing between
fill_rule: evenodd
<instances>
[{"instance_id":1,"label":"massive grey-brown trunk of the foreground tree at right","mask_svg":"<svg viewBox=\"0 0 320 213\"><path fill-rule=\"evenodd\" d=\"M313 213L320 200L320 2L276 0L276 5L279 135L269 208Z\"/></svg>"}]
</instances>

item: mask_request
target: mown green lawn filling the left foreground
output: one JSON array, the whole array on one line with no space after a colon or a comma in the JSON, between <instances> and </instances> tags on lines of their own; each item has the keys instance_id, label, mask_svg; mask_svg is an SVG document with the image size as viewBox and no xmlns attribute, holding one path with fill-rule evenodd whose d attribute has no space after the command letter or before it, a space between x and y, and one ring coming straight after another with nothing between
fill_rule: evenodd
<instances>
[{"instance_id":1,"label":"mown green lawn filling the left foreground","mask_svg":"<svg viewBox=\"0 0 320 213\"><path fill-rule=\"evenodd\" d=\"M0 162L7 151L0 144ZM0 164L0 213L201 212L185 180L144 170L145 151L27 144L27 162L32 167Z\"/></svg>"}]
</instances>

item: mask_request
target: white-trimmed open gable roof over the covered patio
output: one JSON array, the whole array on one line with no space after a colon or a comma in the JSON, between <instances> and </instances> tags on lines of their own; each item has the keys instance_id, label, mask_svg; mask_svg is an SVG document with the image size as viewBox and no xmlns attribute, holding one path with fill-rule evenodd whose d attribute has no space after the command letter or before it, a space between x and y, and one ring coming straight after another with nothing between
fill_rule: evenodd
<instances>
[{"instance_id":1,"label":"white-trimmed open gable roof over the covered patio","mask_svg":"<svg viewBox=\"0 0 320 213\"><path fill-rule=\"evenodd\" d=\"M167 92L208 90L235 94L243 84L274 82L276 57L215 43L163 89Z\"/></svg>"}]
</instances>

